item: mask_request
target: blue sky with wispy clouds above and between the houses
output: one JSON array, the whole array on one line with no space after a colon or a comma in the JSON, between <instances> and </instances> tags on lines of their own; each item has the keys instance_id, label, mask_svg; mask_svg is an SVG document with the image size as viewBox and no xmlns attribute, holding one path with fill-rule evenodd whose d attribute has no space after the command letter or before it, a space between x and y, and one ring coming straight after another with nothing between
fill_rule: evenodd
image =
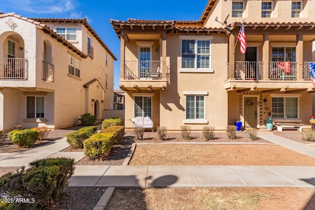
<instances>
[{"instance_id":1,"label":"blue sky with wispy clouds above and between the houses","mask_svg":"<svg viewBox=\"0 0 315 210\"><path fill-rule=\"evenodd\" d=\"M120 41L110 19L199 20L208 0L1 0L0 11L28 18L86 18L118 58L114 89L119 89Z\"/></svg>"}]
</instances>

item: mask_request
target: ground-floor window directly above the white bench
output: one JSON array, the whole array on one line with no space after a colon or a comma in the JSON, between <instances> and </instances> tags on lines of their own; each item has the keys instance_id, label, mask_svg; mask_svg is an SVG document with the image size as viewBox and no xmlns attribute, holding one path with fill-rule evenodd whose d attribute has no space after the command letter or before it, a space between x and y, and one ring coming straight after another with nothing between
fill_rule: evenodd
<instances>
[{"instance_id":1,"label":"ground-floor window directly above the white bench","mask_svg":"<svg viewBox=\"0 0 315 210\"><path fill-rule=\"evenodd\" d=\"M151 96L134 96L134 117L152 117Z\"/></svg>"}]
</instances>

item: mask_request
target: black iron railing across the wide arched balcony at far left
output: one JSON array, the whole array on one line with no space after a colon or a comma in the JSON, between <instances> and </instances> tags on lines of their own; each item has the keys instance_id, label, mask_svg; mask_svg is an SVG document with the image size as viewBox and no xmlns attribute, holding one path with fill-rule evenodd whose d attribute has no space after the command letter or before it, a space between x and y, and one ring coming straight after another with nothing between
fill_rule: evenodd
<instances>
[{"instance_id":1,"label":"black iron railing across the wide arched balcony at far left","mask_svg":"<svg viewBox=\"0 0 315 210\"><path fill-rule=\"evenodd\" d=\"M28 60L0 58L0 79L27 80Z\"/></svg>"}]
</instances>

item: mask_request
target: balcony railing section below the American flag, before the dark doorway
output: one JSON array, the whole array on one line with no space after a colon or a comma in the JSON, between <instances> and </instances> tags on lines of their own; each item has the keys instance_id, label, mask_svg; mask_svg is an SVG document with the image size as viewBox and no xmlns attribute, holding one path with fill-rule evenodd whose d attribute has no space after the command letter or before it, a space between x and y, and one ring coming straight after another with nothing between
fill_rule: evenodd
<instances>
[{"instance_id":1,"label":"balcony railing section below the American flag, before the dark doorway","mask_svg":"<svg viewBox=\"0 0 315 210\"><path fill-rule=\"evenodd\" d=\"M236 80L262 80L262 61L235 61L234 78Z\"/></svg>"}]
</instances>

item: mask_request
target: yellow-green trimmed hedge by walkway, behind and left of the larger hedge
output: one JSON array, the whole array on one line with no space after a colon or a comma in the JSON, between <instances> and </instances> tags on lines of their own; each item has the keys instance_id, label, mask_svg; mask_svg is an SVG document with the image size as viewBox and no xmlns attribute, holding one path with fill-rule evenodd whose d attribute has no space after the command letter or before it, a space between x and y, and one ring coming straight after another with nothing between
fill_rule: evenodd
<instances>
[{"instance_id":1,"label":"yellow-green trimmed hedge by walkway, behind and left of the larger hedge","mask_svg":"<svg viewBox=\"0 0 315 210\"><path fill-rule=\"evenodd\" d=\"M66 141L74 148L83 148L83 141L97 132L96 126L88 126L80 128L66 135Z\"/></svg>"}]
</instances>

